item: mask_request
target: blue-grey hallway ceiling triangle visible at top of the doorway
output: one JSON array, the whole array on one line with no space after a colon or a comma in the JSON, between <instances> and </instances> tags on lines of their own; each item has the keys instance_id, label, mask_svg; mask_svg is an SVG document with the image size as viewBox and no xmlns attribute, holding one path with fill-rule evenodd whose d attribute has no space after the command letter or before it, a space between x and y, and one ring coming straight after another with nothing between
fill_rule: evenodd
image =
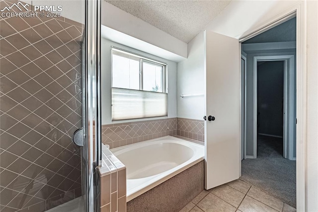
<instances>
[{"instance_id":1,"label":"blue-grey hallway ceiling triangle visible at top of the doorway","mask_svg":"<svg viewBox=\"0 0 318 212\"><path fill-rule=\"evenodd\" d=\"M296 17L244 41L243 44L287 41L296 41Z\"/></svg>"}]
</instances>

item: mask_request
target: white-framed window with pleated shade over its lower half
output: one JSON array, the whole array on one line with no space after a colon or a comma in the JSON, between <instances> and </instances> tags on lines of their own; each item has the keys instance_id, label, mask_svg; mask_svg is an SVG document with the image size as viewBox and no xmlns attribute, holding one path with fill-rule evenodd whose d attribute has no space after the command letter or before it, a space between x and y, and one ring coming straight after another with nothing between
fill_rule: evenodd
<instances>
[{"instance_id":1,"label":"white-framed window with pleated shade over its lower half","mask_svg":"<svg viewBox=\"0 0 318 212\"><path fill-rule=\"evenodd\" d=\"M167 116L166 64L112 47L112 120Z\"/></svg>"}]
</instances>

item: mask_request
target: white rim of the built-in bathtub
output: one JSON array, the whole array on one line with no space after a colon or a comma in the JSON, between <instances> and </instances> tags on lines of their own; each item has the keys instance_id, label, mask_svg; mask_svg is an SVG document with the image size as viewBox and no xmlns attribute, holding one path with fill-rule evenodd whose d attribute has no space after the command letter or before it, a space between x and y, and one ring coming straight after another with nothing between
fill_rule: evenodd
<instances>
[{"instance_id":1,"label":"white rim of the built-in bathtub","mask_svg":"<svg viewBox=\"0 0 318 212\"><path fill-rule=\"evenodd\" d=\"M167 181L168 179L178 175L179 173L183 172L184 170L190 168L191 166L199 163L200 161L204 160L204 146L203 145L200 145L200 144L197 144L197 143L193 143L191 141L187 141L187 140L183 140L181 138L177 138L177 137L173 137L173 136L170 136L170 135L167 135L167 136L163 136L163 137L159 137L159 138L155 138L155 139L151 139L151 140L146 140L146 141L142 141L142 142L138 142L138 143L134 143L134 144L129 144L129 145L125 145L125 146L121 146L121 147L116 147L116 148L113 148L113 149L110 149L110 151L115 155L116 152L120 152L121 150L125 149L125 148L128 148L128 147L132 147L132 146L135 146L135 148L138 148L139 146L142 146L144 143L151 143L151 142L154 142L154 141L158 141L158 140L166 140L166 139L171 139L171 140L174 140L174 141L179 141L179 142L182 142L182 143L186 143L186 144L190 144L190 145L194 145L198 148L203 148L203 155L199 158L196 158L195 160L192 160L190 163L187 163L189 160L191 160L191 158L187 161L185 161L184 163L187 163L184 165L184 163L170 169L170 170L167 170L163 173L159 173L157 175L154 175L152 176L153 178L151 178L149 181L147 181L148 185L144 185L145 183L137 186L134 188L134 190L127 190L127 193L126 193L126 202L129 202L131 200L133 200L134 198L146 193L147 191L155 188L156 186L158 186L159 184ZM151 145L151 144L149 144ZM182 145L182 144L181 144ZM115 152L113 152L113 150L116 150ZM193 158L193 157L192 157ZM182 167L180 167L182 166ZM176 169L177 167L179 167L178 169ZM176 169L176 170L174 170ZM159 179L159 175L162 175ZM130 179L126 179L126 182L128 184L128 181L131 181Z\"/></svg>"}]
</instances>

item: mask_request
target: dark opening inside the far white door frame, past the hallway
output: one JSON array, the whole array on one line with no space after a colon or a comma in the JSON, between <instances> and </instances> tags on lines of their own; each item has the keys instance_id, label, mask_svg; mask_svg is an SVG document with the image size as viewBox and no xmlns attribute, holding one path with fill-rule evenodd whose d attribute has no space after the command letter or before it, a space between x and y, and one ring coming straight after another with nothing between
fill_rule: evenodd
<instances>
[{"instance_id":1,"label":"dark opening inside the far white door frame, past the hallway","mask_svg":"<svg viewBox=\"0 0 318 212\"><path fill-rule=\"evenodd\" d=\"M257 61L257 155L283 156L284 61ZM284 137L283 137L284 136Z\"/></svg>"}]
</instances>

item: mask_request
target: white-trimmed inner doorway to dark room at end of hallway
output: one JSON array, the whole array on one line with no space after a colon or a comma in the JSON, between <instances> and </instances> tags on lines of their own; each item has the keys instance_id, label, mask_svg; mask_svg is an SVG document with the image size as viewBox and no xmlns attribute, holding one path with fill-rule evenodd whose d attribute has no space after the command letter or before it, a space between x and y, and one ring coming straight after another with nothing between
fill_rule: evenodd
<instances>
[{"instance_id":1,"label":"white-trimmed inner doorway to dark room at end of hallway","mask_svg":"<svg viewBox=\"0 0 318 212\"><path fill-rule=\"evenodd\" d=\"M282 138L283 157L296 160L294 75L294 55L253 57L253 158L261 135Z\"/></svg>"}]
</instances>

